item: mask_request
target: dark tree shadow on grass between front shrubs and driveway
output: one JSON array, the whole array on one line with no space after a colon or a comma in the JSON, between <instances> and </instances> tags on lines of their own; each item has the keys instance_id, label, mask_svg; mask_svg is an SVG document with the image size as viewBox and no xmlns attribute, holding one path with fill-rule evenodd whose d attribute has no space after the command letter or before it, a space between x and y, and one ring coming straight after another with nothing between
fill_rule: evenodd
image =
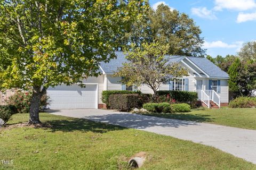
<instances>
[{"instance_id":1,"label":"dark tree shadow on grass between front shrubs and driveway","mask_svg":"<svg viewBox=\"0 0 256 170\"><path fill-rule=\"evenodd\" d=\"M173 118L184 121L194 121L194 122L213 122L213 118L210 118L210 115L202 114L189 114L189 113L150 113L143 114L147 116L155 116L162 118Z\"/></svg>"}]
</instances>

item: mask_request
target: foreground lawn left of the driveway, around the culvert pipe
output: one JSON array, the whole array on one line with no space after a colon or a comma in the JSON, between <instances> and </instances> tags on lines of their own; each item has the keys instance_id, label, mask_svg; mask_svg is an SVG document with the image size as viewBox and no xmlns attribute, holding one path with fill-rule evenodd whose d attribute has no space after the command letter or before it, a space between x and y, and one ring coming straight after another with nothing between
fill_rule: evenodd
<instances>
[{"instance_id":1,"label":"foreground lawn left of the driveway, around the culvert pipe","mask_svg":"<svg viewBox=\"0 0 256 170\"><path fill-rule=\"evenodd\" d=\"M127 169L127 160L146 151L141 169L256 169L256 165L218 149L92 121L40 114L52 128L0 130L0 169ZM9 124L26 122L13 115ZM1 162L0 162L1 163Z\"/></svg>"}]
</instances>

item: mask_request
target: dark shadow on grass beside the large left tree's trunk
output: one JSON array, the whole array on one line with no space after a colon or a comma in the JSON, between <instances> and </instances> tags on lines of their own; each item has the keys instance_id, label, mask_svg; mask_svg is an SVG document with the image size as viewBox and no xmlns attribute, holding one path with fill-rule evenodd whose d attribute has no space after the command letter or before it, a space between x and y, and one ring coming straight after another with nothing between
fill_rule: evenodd
<instances>
[{"instance_id":1,"label":"dark shadow on grass beside the large left tree's trunk","mask_svg":"<svg viewBox=\"0 0 256 170\"><path fill-rule=\"evenodd\" d=\"M62 131L62 132L94 132L94 133L106 133L108 131L123 130L121 126L110 125L105 123L93 122L81 118L70 118L68 120L52 120L44 121L44 123L50 124L51 132Z\"/></svg>"}]
</instances>

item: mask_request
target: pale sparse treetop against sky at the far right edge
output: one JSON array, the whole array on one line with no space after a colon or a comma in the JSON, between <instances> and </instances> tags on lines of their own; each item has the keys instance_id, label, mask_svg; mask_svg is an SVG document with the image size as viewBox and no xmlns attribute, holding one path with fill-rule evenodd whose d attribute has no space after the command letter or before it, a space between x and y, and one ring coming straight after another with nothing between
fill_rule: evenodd
<instances>
[{"instance_id":1,"label":"pale sparse treetop against sky at the far right edge","mask_svg":"<svg viewBox=\"0 0 256 170\"><path fill-rule=\"evenodd\" d=\"M243 47L238 52L238 56L242 60L253 60L256 61L256 41L251 41L243 45Z\"/></svg>"}]
</instances>

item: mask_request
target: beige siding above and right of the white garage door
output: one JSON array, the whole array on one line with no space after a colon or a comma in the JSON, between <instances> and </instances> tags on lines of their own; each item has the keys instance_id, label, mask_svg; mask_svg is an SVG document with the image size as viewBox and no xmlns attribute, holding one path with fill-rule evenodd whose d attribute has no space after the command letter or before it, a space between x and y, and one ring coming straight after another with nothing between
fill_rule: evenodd
<instances>
[{"instance_id":1,"label":"beige siding above and right of the white garage door","mask_svg":"<svg viewBox=\"0 0 256 170\"><path fill-rule=\"evenodd\" d=\"M98 83L98 103L102 104L101 97L104 89L104 75L98 77L89 77L83 80L83 83Z\"/></svg>"}]
</instances>

